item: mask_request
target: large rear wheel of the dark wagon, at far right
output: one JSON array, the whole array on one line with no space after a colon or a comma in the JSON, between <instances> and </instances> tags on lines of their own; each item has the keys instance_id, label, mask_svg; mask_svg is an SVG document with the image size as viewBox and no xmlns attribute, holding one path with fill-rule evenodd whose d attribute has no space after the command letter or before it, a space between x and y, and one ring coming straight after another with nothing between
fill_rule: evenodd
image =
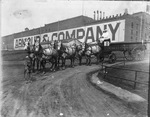
<instances>
[{"instance_id":1,"label":"large rear wheel of the dark wagon, at far right","mask_svg":"<svg viewBox=\"0 0 150 117\"><path fill-rule=\"evenodd\" d=\"M143 60L145 57L145 51L141 50L139 48L134 49L132 51L132 56L133 56L134 60Z\"/></svg>"}]
</instances>

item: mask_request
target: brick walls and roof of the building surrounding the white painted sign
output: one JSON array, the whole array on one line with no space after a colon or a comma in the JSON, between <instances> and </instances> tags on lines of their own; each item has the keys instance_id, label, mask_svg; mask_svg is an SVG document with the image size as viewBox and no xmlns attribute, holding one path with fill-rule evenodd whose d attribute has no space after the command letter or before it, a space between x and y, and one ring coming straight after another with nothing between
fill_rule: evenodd
<instances>
[{"instance_id":1,"label":"brick walls and roof of the building surrounding the white painted sign","mask_svg":"<svg viewBox=\"0 0 150 117\"><path fill-rule=\"evenodd\" d=\"M143 20L141 20L141 15ZM105 24L107 22L119 21L125 19L125 29L124 35L121 38L124 38L125 42L139 42L149 38L150 40L150 15L145 13L137 13L133 15L117 15L117 16L110 16L106 19L102 20L93 20L92 18L88 18L85 16L78 16L75 18L70 18L62 21L57 21L50 24L45 24L43 27L39 27L32 30L22 31L19 33L15 33L12 35L8 35L2 37L2 49L14 48L14 39L20 37L27 37L32 35L40 35L49 32L56 32L61 30L69 30L78 27L88 27L89 25L94 24ZM142 26L141 26L142 24Z\"/></svg>"}]
</instances>

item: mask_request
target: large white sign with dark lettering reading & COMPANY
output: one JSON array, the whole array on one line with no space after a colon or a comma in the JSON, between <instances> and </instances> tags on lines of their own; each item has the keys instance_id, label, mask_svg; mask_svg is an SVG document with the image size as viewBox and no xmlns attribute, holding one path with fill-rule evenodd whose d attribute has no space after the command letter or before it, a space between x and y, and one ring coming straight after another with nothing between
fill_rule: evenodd
<instances>
[{"instance_id":1,"label":"large white sign with dark lettering reading & COMPANY","mask_svg":"<svg viewBox=\"0 0 150 117\"><path fill-rule=\"evenodd\" d=\"M67 30L60 30L50 33L43 33L40 35L33 35L28 37L21 37L14 39L14 49L24 49L25 43L34 44L35 40L40 39L40 42L51 40L65 40L76 38L81 42L94 42L99 39L103 30L107 29L111 42L123 42L125 34L125 20L118 20L107 23L94 24L84 27L77 27Z\"/></svg>"}]
</instances>

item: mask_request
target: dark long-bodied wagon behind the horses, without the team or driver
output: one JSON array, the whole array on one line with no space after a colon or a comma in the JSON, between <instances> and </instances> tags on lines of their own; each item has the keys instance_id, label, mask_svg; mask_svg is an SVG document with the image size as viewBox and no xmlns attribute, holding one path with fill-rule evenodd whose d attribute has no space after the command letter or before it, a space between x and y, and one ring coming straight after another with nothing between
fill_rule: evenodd
<instances>
[{"instance_id":1,"label":"dark long-bodied wagon behind the horses, without the team or driver","mask_svg":"<svg viewBox=\"0 0 150 117\"><path fill-rule=\"evenodd\" d=\"M107 43L107 44L105 44ZM146 43L142 42L117 42L110 43L108 40L103 42L100 60L103 61L108 56L109 63L114 63L117 59L116 51L123 53L126 60L143 60L145 57Z\"/></svg>"}]
</instances>

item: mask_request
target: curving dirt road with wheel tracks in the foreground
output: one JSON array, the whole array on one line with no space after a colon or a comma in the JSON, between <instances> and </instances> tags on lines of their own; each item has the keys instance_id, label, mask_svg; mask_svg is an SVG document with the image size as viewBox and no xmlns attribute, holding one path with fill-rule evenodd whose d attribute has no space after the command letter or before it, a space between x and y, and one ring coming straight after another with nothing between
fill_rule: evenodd
<instances>
[{"instance_id":1,"label":"curving dirt road with wheel tracks in the foreground","mask_svg":"<svg viewBox=\"0 0 150 117\"><path fill-rule=\"evenodd\" d=\"M22 63L3 65L3 117L142 117L124 101L88 82L98 65L34 74L26 84Z\"/></svg>"}]
</instances>

